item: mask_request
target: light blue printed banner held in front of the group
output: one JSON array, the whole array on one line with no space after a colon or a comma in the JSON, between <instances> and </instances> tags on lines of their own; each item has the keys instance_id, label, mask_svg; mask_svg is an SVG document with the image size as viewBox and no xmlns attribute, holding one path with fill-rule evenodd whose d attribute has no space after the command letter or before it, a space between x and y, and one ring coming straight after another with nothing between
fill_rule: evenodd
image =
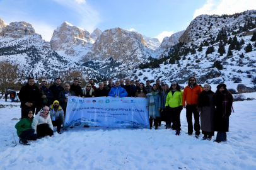
<instances>
[{"instance_id":1,"label":"light blue printed banner held in front of the group","mask_svg":"<svg viewBox=\"0 0 256 170\"><path fill-rule=\"evenodd\" d=\"M67 100L65 127L149 128L146 98L69 96Z\"/></svg>"}]
</instances>

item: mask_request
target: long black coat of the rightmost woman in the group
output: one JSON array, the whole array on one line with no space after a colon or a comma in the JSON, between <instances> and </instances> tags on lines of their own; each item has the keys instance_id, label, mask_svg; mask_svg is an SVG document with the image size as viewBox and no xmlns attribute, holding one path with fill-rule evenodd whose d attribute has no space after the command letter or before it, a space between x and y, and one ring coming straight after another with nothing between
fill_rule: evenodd
<instances>
[{"instance_id":1,"label":"long black coat of the rightmost woman in the group","mask_svg":"<svg viewBox=\"0 0 256 170\"><path fill-rule=\"evenodd\" d=\"M232 95L232 94L230 94L230 95ZM214 131L228 132L228 128L229 128L229 124L230 124L230 115L231 115L231 111L232 111L233 98L232 98L232 96L229 96L229 98L228 98L228 103L226 105L226 117L223 116L222 102L223 102L223 95L222 94L214 94L214 105L216 106L216 110L214 113Z\"/></svg>"}]
</instances>

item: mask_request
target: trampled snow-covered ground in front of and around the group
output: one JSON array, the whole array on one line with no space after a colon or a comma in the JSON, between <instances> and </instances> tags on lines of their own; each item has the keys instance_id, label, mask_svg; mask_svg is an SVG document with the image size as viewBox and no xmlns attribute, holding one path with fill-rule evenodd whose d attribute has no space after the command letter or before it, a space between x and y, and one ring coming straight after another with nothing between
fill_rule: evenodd
<instances>
[{"instance_id":1,"label":"trampled snow-covered ground in front of and around the group","mask_svg":"<svg viewBox=\"0 0 256 170\"><path fill-rule=\"evenodd\" d=\"M255 93L247 93L253 97ZM6 105L3 99L0 105ZM195 139L187 132L165 130L74 127L62 135L14 147L20 107L0 108L0 169L256 169L256 102L237 101L230 116L228 141ZM55 131L56 129L54 129Z\"/></svg>"}]
</instances>

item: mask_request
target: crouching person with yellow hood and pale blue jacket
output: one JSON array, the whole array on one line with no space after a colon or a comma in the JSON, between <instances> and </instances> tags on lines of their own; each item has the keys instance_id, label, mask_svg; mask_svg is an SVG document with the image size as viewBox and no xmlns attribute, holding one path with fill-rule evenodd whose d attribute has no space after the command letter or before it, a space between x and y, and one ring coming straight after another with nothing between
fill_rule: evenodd
<instances>
[{"instance_id":1,"label":"crouching person with yellow hood and pale blue jacket","mask_svg":"<svg viewBox=\"0 0 256 170\"><path fill-rule=\"evenodd\" d=\"M57 100L50 105L50 119L52 120L53 127L57 127L57 133L61 134L61 124L63 125L63 130L65 129L65 115Z\"/></svg>"}]
</instances>

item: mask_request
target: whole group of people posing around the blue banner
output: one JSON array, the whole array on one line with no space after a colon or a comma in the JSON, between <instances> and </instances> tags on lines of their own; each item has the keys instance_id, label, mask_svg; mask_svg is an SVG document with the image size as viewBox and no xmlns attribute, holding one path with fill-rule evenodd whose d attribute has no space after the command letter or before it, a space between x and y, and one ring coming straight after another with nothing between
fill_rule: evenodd
<instances>
[{"instance_id":1,"label":"whole group of people posing around the blue banner","mask_svg":"<svg viewBox=\"0 0 256 170\"><path fill-rule=\"evenodd\" d=\"M125 84L124 84L125 83ZM82 89L81 82L74 79L73 84L61 86L61 79L55 79L54 85L47 88L47 82L42 81L41 88L35 86L33 78L29 78L26 86L20 90L21 120L16 124L20 143L27 145L27 140L36 140L46 135L53 135L54 128L61 134L64 128L67 99L69 96L82 98L95 98L102 96L146 98L146 107L149 111L150 129L161 126L166 122L165 128L176 131L180 135L180 113L186 109L188 135L193 133L192 115L194 115L195 137L199 138L202 130L204 140L211 140L214 131L217 137L214 142L226 141L226 132L229 127L229 116L233 103L233 96L226 88L226 84L219 84L217 91L211 91L211 86L205 84L201 87L195 77L189 78L189 84L183 91L178 82L161 84L160 79L151 86L150 81L130 81L108 79L94 86L92 79ZM52 102L53 101L53 102ZM35 113L35 117L34 114ZM201 123L199 121L201 118ZM154 124L153 124L154 122ZM201 125L200 125L201 124ZM84 126L88 127L88 126Z\"/></svg>"}]
</instances>

